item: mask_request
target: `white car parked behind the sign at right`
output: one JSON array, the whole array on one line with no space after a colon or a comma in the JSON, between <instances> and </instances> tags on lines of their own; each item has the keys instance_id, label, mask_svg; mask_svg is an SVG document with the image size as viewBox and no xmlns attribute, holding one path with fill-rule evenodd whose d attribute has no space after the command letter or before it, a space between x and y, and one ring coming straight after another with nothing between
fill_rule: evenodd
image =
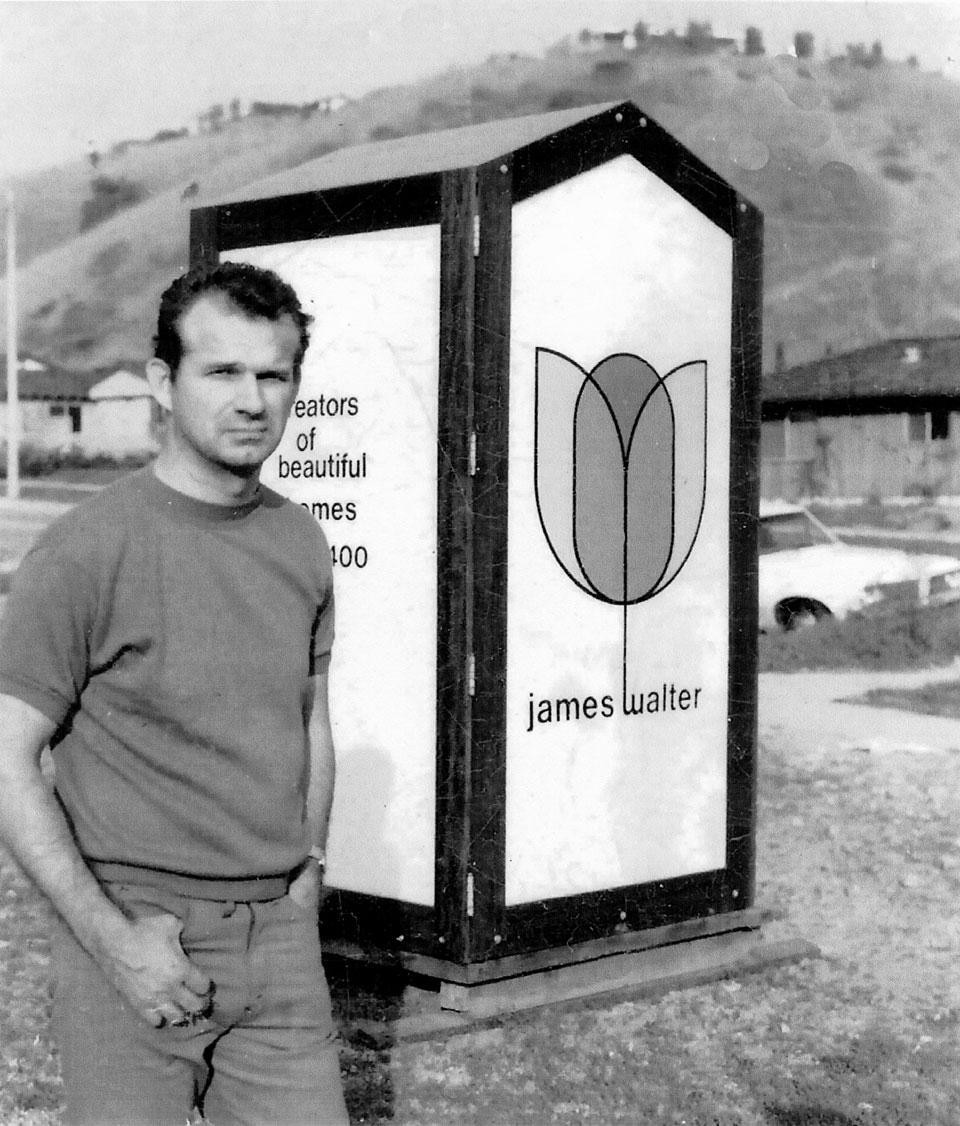
<instances>
[{"instance_id":1,"label":"white car parked behind the sign at right","mask_svg":"<svg viewBox=\"0 0 960 1126\"><path fill-rule=\"evenodd\" d=\"M960 600L960 560L843 543L801 504L760 502L760 628Z\"/></svg>"}]
</instances>

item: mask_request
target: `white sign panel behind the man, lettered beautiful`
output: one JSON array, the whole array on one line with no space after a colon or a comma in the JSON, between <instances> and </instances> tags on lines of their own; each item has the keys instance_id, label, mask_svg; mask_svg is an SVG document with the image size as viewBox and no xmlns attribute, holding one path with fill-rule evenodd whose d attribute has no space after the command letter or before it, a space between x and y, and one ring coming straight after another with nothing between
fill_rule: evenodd
<instances>
[{"instance_id":1,"label":"white sign panel behind the man, lettered beautiful","mask_svg":"<svg viewBox=\"0 0 960 1126\"><path fill-rule=\"evenodd\" d=\"M263 481L316 517L333 557L330 882L432 905L439 227L224 257L276 270L315 318Z\"/></svg>"}]
</instances>

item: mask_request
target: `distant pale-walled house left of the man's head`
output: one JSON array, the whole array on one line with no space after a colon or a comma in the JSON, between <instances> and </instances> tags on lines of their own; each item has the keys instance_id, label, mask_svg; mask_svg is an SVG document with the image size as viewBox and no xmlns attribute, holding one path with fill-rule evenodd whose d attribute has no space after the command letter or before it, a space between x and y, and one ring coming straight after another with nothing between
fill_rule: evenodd
<instances>
[{"instance_id":1,"label":"distant pale-walled house left of the man's head","mask_svg":"<svg viewBox=\"0 0 960 1126\"><path fill-rule=\"evenodd\" d=\"M123 457L156 448L158 409L142 365L72 372L34 358L18 365L21 441L37 450L75 449ZM6 359L0 357L0 373ZM6 445L7 384L0 378L0 441Z\"/></svg>"}]
</instances>

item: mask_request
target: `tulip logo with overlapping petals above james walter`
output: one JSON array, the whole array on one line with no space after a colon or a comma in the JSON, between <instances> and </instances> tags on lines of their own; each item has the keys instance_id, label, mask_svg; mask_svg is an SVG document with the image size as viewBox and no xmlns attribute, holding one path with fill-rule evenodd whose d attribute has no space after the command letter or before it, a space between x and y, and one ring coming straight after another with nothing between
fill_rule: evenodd
<instances>
[{"instance_id":1,"label":"tulip logo with overlapping petals above james walter","mask_svg":"<svg viewBox=\"0 0 960 1126\"><path fill-rule=\"evenodd\" d=\"M535 490L557 563L593 598L627 607L690 557L707 488L707 363L664 376L617 354L592 372L537 349Z\"/></svg>"}]
</instances>

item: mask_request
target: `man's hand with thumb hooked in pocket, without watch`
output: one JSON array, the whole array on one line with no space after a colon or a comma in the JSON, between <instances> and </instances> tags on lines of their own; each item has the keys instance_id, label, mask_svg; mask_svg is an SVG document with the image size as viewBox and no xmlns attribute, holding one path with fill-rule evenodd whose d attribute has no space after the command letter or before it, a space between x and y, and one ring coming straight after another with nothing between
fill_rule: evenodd
<instances>
[{"instance_id":1,"label":"man's hand with thumb hooked in pocket, without watch","mask_svg":"<svg viewBox=\"0 0 960 1126\"><path fill-rule=\"evenodd\" d=\"M129 921L105 950L102 967L120 995L154 1028L186 1025L209 1011L213 983L180 946L172 914Z\"/></svg>"}]
</instances>

